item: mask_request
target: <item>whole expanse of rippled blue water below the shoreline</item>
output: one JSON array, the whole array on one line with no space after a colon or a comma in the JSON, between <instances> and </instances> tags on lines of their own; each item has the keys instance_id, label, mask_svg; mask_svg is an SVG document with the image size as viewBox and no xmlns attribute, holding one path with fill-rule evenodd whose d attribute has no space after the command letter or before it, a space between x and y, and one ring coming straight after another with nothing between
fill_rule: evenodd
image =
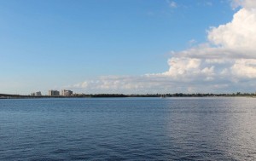
<instances>
[{"instance_id":1,"label":"whole expanse of rippled blue water below the shoreline","mask_svg":"<svg viewBox=\"0 0 256 161\"><path fill-rule=\"evenodd\" d=\"M256 99L0 100L0 160L256 160Z\"/></svg>"}]
</instances>

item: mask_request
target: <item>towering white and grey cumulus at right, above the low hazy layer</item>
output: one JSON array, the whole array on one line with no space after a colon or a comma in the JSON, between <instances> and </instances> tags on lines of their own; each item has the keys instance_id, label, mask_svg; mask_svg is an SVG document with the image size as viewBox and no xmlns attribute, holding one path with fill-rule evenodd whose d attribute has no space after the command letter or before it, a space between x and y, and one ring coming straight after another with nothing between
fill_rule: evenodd
<instances>
[{"instance_id":1,"label":"towering white and grey cumulus at right, above the low hazy layer","mask_svg":"<svg viewBox=\"0 0 256 161\"><path fill-rule=\"evenodd\" d=\"M213 79L256 78L256 1L234 1L242 5L227 24L211 27L208 42L173 54L164 74L177 78L211 75ZM211 70L207 70L211 69ZM211 72L206 72L211 71ZM228 74L229 73L229 74Z\"/></svg>"}]
</instances>

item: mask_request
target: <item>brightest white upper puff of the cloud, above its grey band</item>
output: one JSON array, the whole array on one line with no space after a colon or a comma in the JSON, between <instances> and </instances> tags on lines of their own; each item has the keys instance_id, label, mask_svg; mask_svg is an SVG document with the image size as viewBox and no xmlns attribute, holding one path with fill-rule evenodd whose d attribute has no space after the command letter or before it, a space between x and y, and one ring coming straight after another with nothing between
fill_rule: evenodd
<instances>
[{"instance_id":1,"label":"brightest white upper puff of the cloud, above its grey band","mask_svg":"<svg viewBox=\"0 0 256 161\"><path fill-rule=\"evenodd\" d=\"M240 52L255 51L255 29L256 10L241 9L234 15L230 23L212 27L208 33L208 39L211 43L224 49L233 49Z\"/></svg>"}]
</instances>

